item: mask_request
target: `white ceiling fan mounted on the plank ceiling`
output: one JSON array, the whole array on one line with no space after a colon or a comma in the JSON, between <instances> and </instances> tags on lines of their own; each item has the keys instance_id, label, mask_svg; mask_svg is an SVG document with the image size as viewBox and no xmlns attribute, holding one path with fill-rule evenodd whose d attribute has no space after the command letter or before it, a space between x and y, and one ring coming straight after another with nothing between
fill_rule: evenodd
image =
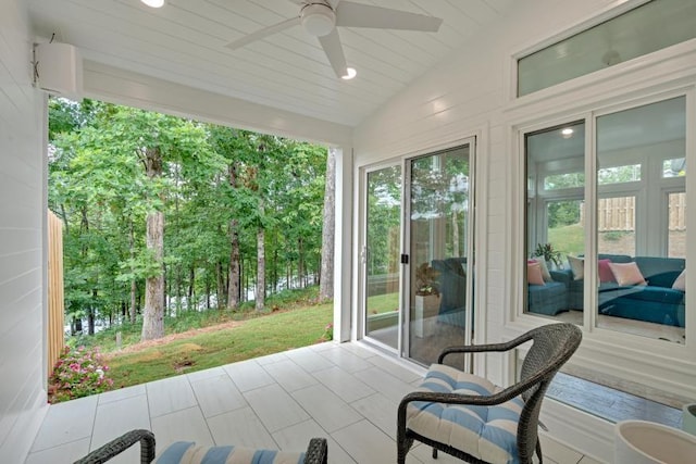
<instances>
[{"instance_id":1,"label":"white ceiling fan mounted on the plank ceiling","mask_svg":"<svg viewBox=\"0 0 696 464\"><path fill-rule=\"evenodd\" d=\"M336 26L435 33L443 23L439 17L355 3L347 0L289 1L300 7L299 15L251 33L227 43L227 47L236 50L247 43L289 27L301 25L309 35L319 39L336 75L338 77L348 77L348 66Z\"/></svg>"}]
</instances>

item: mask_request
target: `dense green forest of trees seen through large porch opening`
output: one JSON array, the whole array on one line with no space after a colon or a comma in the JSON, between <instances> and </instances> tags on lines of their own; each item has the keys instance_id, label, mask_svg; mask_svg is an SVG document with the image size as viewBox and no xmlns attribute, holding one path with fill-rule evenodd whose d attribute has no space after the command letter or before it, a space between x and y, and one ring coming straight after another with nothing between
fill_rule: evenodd
<instances>
[{"instance_id":1,"label":"dense green forest of trees seen through large porch opening","mask_svg":"<svg viewBox=\"0 0 696 464\"><path fill-rule=\"evenodd\" d=\"M151 339L165 314L250 298L261 310L266 292L319 284L332 158L275 136L51 99L48 201L64 224L66 319L92 334L96 319L142 317Z\"/></svg>"}]
</instances>

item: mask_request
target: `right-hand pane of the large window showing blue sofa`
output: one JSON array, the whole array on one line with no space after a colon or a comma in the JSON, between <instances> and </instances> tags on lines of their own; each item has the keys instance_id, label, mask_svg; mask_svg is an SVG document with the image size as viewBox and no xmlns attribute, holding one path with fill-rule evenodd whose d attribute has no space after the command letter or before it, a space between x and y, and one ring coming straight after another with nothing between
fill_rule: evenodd
<instances>
[{"instance_id":1,"label":"right-hand pane of the large window showing blue sofa","mask_svg":"<svg viewBox=\"0 0 696 464\"><path fill-rule=\"evenodd\" d=\"M686 341L686 114L676 97L596 120L598 327Z\"/></svg>"}]
</instances>

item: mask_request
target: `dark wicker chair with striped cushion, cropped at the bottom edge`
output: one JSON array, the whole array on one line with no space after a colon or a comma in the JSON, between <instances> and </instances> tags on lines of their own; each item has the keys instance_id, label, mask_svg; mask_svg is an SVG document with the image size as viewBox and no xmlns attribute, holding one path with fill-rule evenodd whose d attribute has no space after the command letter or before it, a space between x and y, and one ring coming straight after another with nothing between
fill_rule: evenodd
<instances>
[{"instance_id":1,"label":"dark wicker chair with striped cushion, cropped at the bottom edge","mask_svg":"<svg viewBox=\"0 0 696 464\"><path fill-rule=\"evenodd\" d=\"M122 435L121 437L110 441L109 443L96 449L91 453L87 454L85 457L80 459L79 461L76 461L75 464L100 464L100 463L107 462L110 459L114 457L115 455L122 453L126 449L130 448L133 444L137 443L138 441L140 442L140 463L141 464L151 463L154 460L154 435L152 435L150 430L130 430ZM170 448L179 447L179 451L181 451L181 450L188 449L189 446L194 446L194 444L195 443L179 441L179 442L173 443ZM223 447L219 447L219 449L222 449L222 448ZM166 453L167 450L165 450L164 453ZM224 451L229 451L229 450L224 450ZM246 451L245 454L248 454L248 451L253 452L254 450L245 450L245 451ZM257 451L263 451L265 453L269 453L263 455L262 457L263 462L273 462L271 456L273 454L272 451L270 450L257 450ZM204 450L203 452L197 453L197 457L202 459L203 454L204 454ZM215 453L212 453L212 454L215 454ZM326 464L327 454L328 454L328 451L327 451L326 439L312 438L309 442L309 446L307 447L307 451L304 452L303 462L304 464ZM170 454L170 456L167 457L172 457L172 454ZM219 462L215 459L221 459L221 455L220 453L217 453L217 455L215 455L214 459L210 457L210 455L208 455L207 457L209 459L209 461L206 461L206 462L212 463L212 462ZM256 457L258 457L258 455ZM226 454L224 454L224 457L222 457L222 461L220 462L227 462L225 459L226 459ZM172 462L172 461L169 460L167 462ZM233 461L233 462L238 462L238 461ZM285 461L285 462L288 462L288 461Z\"/></svg>"}]
</instances>

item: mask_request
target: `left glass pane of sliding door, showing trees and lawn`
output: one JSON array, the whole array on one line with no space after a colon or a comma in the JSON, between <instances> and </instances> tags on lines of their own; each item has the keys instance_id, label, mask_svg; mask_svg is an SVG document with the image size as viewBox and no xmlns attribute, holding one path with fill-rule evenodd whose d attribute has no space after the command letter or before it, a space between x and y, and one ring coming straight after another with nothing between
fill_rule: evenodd
<instances>
[{"instance_id":1,"label":"left glass pane of sliding door, showing trees and lawn","mask_svg":"<svg viewBox=\"0 0 696 464\"><path fill-rule=\"evenodd\" d=\"M365 336L394 350L399 336L401 166L368 173L363 265Z\"/></svg>"}]
</instances>

